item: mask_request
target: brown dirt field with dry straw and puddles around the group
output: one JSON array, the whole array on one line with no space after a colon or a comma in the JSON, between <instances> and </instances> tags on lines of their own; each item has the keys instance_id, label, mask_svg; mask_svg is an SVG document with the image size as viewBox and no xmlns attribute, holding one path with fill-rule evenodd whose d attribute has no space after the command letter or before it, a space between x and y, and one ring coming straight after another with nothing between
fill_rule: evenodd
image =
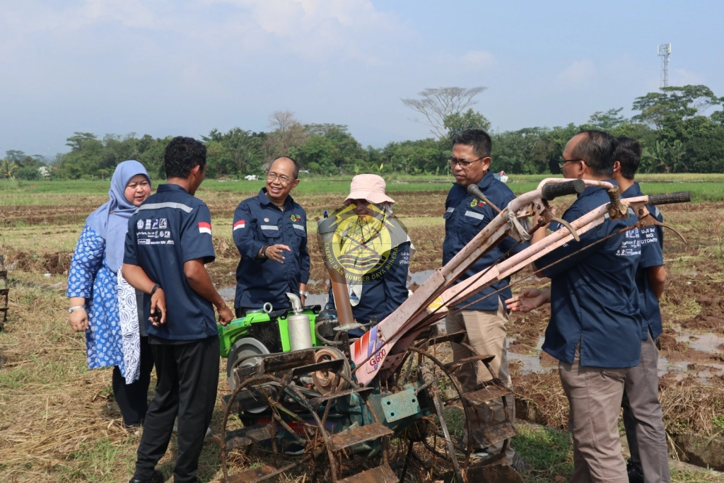
<instances>
[{"instance_id":1,"label":"brown dirt field with dry straw and puddles around the group","mask_svg":"<svg viewBox=\"0 0 724 483\"><path fill-rule=\"evenodd\" d=\"M209 269L217 287L234 283L238 259L230 237L233 210L240 199L252 194L199 193L214 224L217 259ZM395 193L395 213L408 226L417 248L413 272L441 264L445 196L442 189ZM313 232L313 220L325 209L337 208L343 196L303 193L295 198L305 207L308 231ZM119 412L111 400L111 373L85 369L83 337L70 332L66 322L64 291L72 249L85 217L104 200L101 193L77 196L72 203L59 197L43 206L0 206L0 253L6 256L12 283L9 322L0 333L0 481L122 482L132 471L138 434L119 425ZM567 202L556 204L563 209ZM672 232L665 232L669 282L662 300L665 333L660 365L665 423L672 435L693 431L717 437L724 433L724 226L717 234L724 206L694 203L664 206L662 212L689 242L684 245ZM326 290L321 282L325 272L315 240L311 237L309 242L311 280L320 282L311 285L311 291L321 293ZM521 272L513 280L529 275ZM565 429L567 408L555 374L556 361L541 356L539 350L548 316L548 309L542 308L512 317L514 384L519 407L529 419ZM225 387L221 377L220 396ZM216 411L212 427L219 419ZM525 447L542 440L541 434L531 434L525 432L516 444ZM552 444L543 440L540 445ZM537 453L529 450L534 469L526 481L570 476L570 441L562 444L555 457L559 459L553 462L541 458L536 463ZM169 453L163 460L167 473L173 448ZM203 481L219 476L213 443L205 446L201 463ZM706 471L677 470L674 481L724 480Z\"/></svg>"}]
</instances>

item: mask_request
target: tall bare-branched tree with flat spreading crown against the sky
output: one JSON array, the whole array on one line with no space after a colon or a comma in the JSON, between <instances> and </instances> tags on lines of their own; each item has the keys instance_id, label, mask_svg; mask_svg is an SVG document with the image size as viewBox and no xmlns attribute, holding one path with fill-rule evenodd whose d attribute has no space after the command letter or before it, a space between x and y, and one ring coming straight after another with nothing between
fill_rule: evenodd
<instances>
[{"instance_id":1,"label":"tall bare-branched tree with flat spreading crown against the sky","mask_svg":"<svg viewBox=\"0 0 724 483\"><path fill-rule=\"evenodd\" d=\"M403 98L405 106L413 111L422 114L425 120L413 119L415 122L421 122L429 126L430 132L437 138L442 139L447 136L445 127L445 118L450 114L458 114L463 112L468 106L476 104L475 96L485 91L486 87L441 87L427 88L418 93L419 98Z\"/></svg>"}]
</instances>

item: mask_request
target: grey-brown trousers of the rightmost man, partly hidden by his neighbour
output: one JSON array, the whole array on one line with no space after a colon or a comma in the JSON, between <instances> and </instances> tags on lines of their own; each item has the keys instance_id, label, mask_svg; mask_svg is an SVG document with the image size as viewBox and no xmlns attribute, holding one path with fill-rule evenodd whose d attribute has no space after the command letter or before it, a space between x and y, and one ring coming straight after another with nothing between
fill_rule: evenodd
<instances>
[{"instance_id":1,"label":"grey-brown trousers of the rightmost man, partly hidden by his neighbour","mask_svg":"<svg viewBox=\"0 0 724 483\"><path fill-rule=\"evenodd\" d=\"M659 403L658 364L659 350L649 332L649 338L641 342L641 363L626 374L626 390L621 401L631 464L644 474L645 483L671 481Z\"/></svg>"}]
</instances>

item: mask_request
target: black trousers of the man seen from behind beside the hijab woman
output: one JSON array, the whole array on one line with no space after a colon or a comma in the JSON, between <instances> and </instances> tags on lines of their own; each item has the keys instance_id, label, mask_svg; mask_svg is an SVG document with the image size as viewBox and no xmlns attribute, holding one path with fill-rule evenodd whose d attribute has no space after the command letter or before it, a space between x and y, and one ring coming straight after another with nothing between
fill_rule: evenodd
<instances>
[{"instance_id":1,"label":"black trousers of the man seen from behind beside the hijab woman","mask_svg":"<svg viewBox=\"0 0 724 483\"><path fill-rule=\"evenodd\" d=\"M166 453L178 415L174 482L193 482L219 383L219 337L185 344L151 344L159 383L146 413L134 477L151 479Z\"/></svg>"}]
</instances>

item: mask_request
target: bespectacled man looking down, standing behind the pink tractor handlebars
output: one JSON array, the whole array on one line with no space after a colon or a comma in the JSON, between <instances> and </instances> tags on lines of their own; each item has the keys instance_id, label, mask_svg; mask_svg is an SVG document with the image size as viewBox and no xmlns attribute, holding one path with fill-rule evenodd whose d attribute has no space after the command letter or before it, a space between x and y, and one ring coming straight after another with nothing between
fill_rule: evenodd
<instances>
[{"instance_id":1,"label":"bespectacled man looking down, standing behind the pink tractor handlebars","mask_svg":"<svg viewBox=\"0 0 724 483\"><path fill-rule=\"evenodd\" d=\"M515 199L513 191L505 183L496 180L488 169L491 161L491 148L490 136L483 130L465 130L452 138L450 169L452 169L452 174L455 175L455 185L452 186L450 193L447 194L447 200L445 200L445 215L443 216L445 218L445 241L442 243L442 264L447 264L497 216L497 211L494 211L486 201L468 194L468 185L478 185L489 203L493 203L499 209L505 209L508 203ZM505 238L499 245L481 256L460 277L458 282L487 269L490 265L499 261L500 257L510 251L511 248L511 253L517 253L526 246L528 245L518 245L513 238ZM468 333L469 345L478 353L494 355L495 358L490 362L494 377L501 379L505 385L510 387L510 390L513 390L513 382L510 379L510 371L508 370L508 341L505 338L505 323L508 322L508 311L502 304L503 300L510 298L512 295L510 288L504 288L509 283L510 278L501 280L481 293L474 295L470 300L465 301L463 305L479 299L479 301L467 307L466 310L447 317L445 327L448 334L465 330ZM486 295L500 289L504 289L500 294L485 298ZM471 353L462 345L452 344L452 355L455 361L458 361L470 357ZM466 392L491 379L490 372L481 362L463 364L455 374L460 380L463 391ZM508 395L506 398L508 419L514 422L515 401L513 395ZM470 424L473 432L505 420L502 398L489 401L472 412ZM466 432L466 440L468 436ZM502 442L488 448L477 447L475 441L472 444L473 450L480 456L487 453L497 454L502 450ZM515 451L508 445L505 453L508 462L512 464Z\"/></svg>"}]
</instances>

